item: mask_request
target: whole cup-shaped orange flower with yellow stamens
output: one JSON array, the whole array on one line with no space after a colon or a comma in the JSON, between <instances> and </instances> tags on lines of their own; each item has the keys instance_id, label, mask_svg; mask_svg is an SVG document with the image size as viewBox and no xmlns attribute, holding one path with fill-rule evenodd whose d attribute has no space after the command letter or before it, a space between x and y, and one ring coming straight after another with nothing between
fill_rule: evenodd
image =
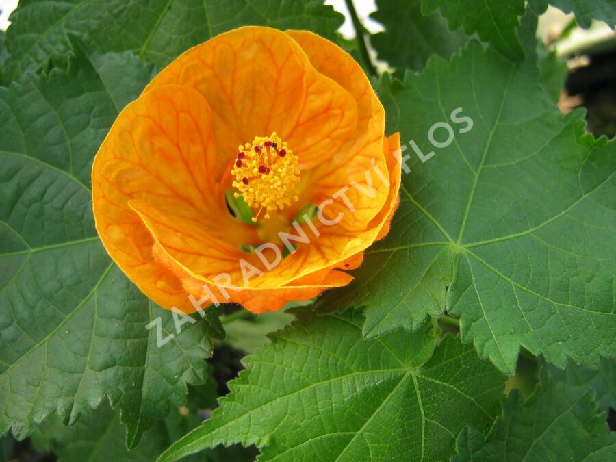
<instances>
[{"instance_id":1,"label":"whole cup-shaped orange flower with yellow stamens","mask_svg":"<svg viewBox=\"0 0 616 462\"><path fill-rule=\"evenodd\" d=\"M335 44L229 31L177 58L118 116L92 166L97 231L166 309L309 300L347 285L342 270L387 233L400 140L384 131L368 78ZM229 196L256 222L235 218ZM294 223L305 205L317 216Z\"/></svg>"}]
</instances>

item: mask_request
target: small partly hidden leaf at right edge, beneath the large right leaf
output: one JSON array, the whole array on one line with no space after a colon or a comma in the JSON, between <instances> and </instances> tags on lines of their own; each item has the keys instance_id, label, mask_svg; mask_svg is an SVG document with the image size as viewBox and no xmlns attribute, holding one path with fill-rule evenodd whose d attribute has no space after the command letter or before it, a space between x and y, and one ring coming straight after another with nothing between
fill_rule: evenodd
<instances>
[{"instance_id":1,"label":"small partly hidden leaf at right edge, beneath the large right leaf","mask_svg":"<svg viewBox=\"0 0 616 462\"><path fill-rule=\"evenodd\" d=\"M569 387L593 387L600 411L616 409L615 359L603 359L596 370L577 364L569 364L562 370L548 364L548 372L554 380L566 382Z\"/></svg>"}]
</instances>

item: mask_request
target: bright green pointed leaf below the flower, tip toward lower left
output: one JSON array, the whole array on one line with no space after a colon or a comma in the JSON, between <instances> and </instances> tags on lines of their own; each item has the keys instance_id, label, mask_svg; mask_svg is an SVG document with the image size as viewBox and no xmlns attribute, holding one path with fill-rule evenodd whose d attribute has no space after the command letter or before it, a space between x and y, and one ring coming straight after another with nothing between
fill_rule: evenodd
<instances>
[{"instance_id":1,"label":"bright green pointed leaf below the flower, tip toward lower left","mask_svg":"<svg viewBox=\"0 0 616 462\"><path fill-rule=\"evenodd\" d=\"M504 376L447 335L361 338L356 311L303 318L245 359L231 394L159 461L256 444L259 460L447 459L467 422L489 428Z\"/></svg>"}]
</instances>

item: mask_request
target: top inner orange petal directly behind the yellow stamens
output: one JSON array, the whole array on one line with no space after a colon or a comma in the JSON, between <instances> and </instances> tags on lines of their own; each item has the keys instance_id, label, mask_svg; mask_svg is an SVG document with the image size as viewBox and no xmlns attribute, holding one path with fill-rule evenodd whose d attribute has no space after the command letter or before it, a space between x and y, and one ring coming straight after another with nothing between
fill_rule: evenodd
<instances>
[{"instance_id":1,"label":"top inner orange petal directly behind the yellow stamens","mask_svg":"<svg viewBox=\"0 0 616 462\"><path fill-rule=\"evenodd\" d=\"M311 66L284 32L247 26L193 47L145 92L168 84L196 88L213 110L220 181L238 145L276 131L300 167L324 162L355 132L355 99Z\"/></svg>"}]
</instances>

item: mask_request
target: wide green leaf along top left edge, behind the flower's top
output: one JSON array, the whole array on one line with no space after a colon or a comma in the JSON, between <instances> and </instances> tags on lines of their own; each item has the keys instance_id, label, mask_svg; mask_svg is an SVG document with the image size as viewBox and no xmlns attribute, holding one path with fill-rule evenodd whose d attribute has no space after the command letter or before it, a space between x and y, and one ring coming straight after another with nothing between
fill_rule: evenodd
<instances>
[{"instance_id":1,"label":"wide green leaf along top left edge, behind the flower's top","mask_svg":"<svg viewBox=\"0 0 616 462\"><path fill-rule=\"evenodd\" d=\"M4 81L70 49L66 33L95 51L133 51L159 66L242 25L309 29L335 38L342 15L322 0L22 0L11 16Z\"/></svg>"}]
</instances>

